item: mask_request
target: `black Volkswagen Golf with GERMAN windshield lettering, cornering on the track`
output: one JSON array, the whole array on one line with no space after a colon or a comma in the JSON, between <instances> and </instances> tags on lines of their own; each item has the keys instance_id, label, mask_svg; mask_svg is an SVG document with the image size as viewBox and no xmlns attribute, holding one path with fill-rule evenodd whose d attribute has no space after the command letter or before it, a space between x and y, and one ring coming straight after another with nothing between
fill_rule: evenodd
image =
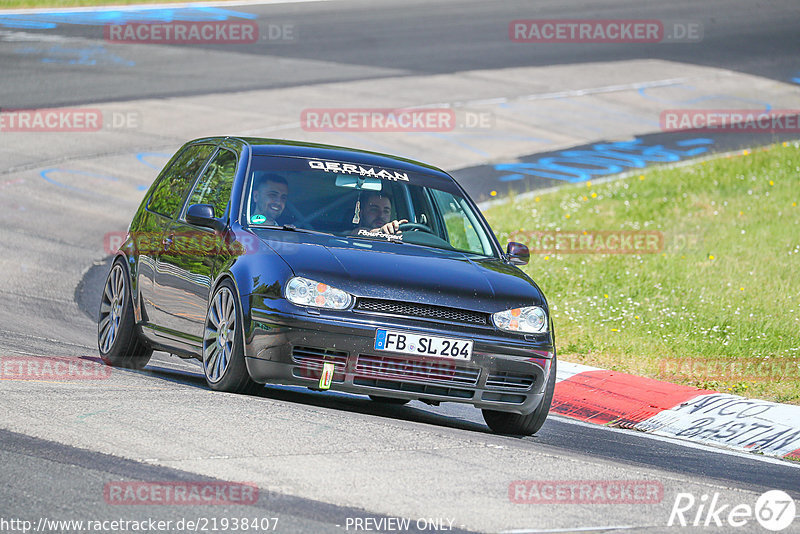
<instances>
[{"instance_id":1,"label":"black Volkswagen Golf with GERMAN windshield lettering, cornering on the track","mask_svg":"<svg viewBox=\"0 0 800 534\"><path fill-rule=\"evenodd\" d=\"M290 384L376 402L469 403L500 433L544 423L556 376L541 290L444 171L273 139L184 145L111 266L109 365L154 350L215 390Z\"/></svg>"}]
</instances>

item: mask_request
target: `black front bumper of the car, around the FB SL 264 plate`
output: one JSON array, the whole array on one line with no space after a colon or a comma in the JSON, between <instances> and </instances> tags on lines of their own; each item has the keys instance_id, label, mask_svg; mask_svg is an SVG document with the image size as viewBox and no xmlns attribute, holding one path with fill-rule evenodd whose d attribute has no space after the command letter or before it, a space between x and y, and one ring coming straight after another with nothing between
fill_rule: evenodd
<instances>
[{"instance_id":1,"label":"black front bumper of the car, around the FB SL 264 plate","mask_svg":"<svg viewBox=\"0 0 800 534\"><path fill-rule=\"evenodd\" d=\"M544 396L554 357L549 336L528 340L501 337L494 329L287 308L250 310L245 361L256 382L316 389L323 364L330 362L335 368L330 389L335 391L462 402L520 414L535 410ZM377 328L472 339L472 358L465 362L376 351Z\"/></svg>"}]
</instances>

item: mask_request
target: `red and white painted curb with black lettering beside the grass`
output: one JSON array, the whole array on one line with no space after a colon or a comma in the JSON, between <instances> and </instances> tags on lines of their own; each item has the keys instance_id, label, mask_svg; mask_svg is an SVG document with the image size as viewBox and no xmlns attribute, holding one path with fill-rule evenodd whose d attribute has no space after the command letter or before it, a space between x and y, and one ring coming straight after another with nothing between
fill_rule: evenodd
<instances>
[{"instance_id":1,"label":"red and white painted curb with black lettering beside the grass","mask_svg":"<svg viewBox=\"0 0 800 534\"><path fill-rule=\"evenodd\" d=\"M800 460L800 406L558 362L551 413Z\"/></svg>"}]
</instances>

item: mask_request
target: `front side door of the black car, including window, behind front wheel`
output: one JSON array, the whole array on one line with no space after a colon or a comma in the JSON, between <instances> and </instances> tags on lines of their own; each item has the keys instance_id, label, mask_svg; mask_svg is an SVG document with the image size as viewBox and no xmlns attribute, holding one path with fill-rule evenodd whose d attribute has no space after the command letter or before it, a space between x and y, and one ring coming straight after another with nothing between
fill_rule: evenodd
<instances>
[{"instance_id":1,"label":"front side door of the black car, including window, behind front wheel","mask_svg":"<svg viewBox=\"0 0 800 534\"><path fill-rule=\"evenodd\" d=\"M187 223L186 210L193 204L210 204L214 216L223 217L231 197L236 164L234 152L217 151L164 238L170 243L170 250L162 254L156 273L156 286L164 299L164 308L169 311L164 315L163 326L192 346L199 346L202 341L211 282L230 251L221 233Z\"/></svg>"}]
</instances>

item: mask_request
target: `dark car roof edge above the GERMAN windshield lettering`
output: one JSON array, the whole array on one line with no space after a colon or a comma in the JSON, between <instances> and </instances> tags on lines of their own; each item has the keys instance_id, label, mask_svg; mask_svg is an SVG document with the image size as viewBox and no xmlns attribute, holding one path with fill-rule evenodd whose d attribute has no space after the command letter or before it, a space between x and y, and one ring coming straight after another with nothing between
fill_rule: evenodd
<instances>
[{"instance_id":1,"label":"dark car roof edge above the GERMAN windshield lettering","mask_svg":"<svg viewBox=\"0 0 800 534\"><path fill-rule=\"evenodd\" d=\"M327 159L332 161L342 161L348 163L360 163L377 167L386 167L409 172L424 173L437 176L453 182L453 177L445 171L433 165L415 161L408 158L370 152L356 148L348 148L334 145L323 145L318 143L307 143L304 141L291 141L287 139L267 139L261 137L215 137L196 139L194 142L217 142L240 141L250 146L254 155L258 156L289 156L302 158Z\"/></svg>"}]
</instances>

